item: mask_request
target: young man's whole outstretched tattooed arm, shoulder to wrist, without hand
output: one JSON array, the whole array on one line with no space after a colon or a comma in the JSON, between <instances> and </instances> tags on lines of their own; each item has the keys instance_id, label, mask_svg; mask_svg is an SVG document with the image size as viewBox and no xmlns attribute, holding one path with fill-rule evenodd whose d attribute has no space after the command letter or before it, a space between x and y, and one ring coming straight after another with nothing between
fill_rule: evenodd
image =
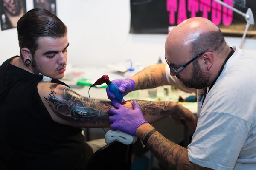
<instances>
[{"instance_id":1,"label":"young man's whole outstretched tattooed arm, shoulder to wrist, without hand","mask_svg":"<svg viewBox=\"0 0 256 170\"><path fill-rule=\"evenodd\" d=\"M90 99L67 86L47 82L38 84L38 92L55 122L76 127L110 127L108 118L111 116L109 109L113 107L111 102ZM132 102L133 100L127 101L124 106L132 109ZM192 115L188 109L176 102L138 102L145 119L150 123L170 115Z\"/></svg>"}]
</instances>

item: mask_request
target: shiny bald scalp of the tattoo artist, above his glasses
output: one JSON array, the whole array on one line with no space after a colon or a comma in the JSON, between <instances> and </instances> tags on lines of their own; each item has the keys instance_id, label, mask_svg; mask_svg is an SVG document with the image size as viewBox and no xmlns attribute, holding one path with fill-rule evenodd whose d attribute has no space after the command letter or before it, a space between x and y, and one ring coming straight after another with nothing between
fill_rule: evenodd
<instances>
[{"instance_id":1,"label":"shiny bald scalp of the tattoo artist, above his glasses","mask_svg":"<svg viewBox=\"0 0 256 170\"><path fill-rule=\"evenodd\" d=\"M218 26L206 18L194 17L183 21L169 32L165 48L166 53L172 53L175 49L195 57L204 51L221 51L224 42Z\"/></svg>"}]
</instances>

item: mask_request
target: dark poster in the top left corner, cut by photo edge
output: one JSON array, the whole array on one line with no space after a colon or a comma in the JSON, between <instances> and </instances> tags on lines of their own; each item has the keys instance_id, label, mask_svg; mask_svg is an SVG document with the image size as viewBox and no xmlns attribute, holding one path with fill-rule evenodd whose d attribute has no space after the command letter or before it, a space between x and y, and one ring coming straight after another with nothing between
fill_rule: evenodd
<instances>
[{"instance_id":1,"label":"dark poster in the top left corner, cut by photo edge","mask_svg":"<svg viewBox=\"0 0 256 170\"><path fill-rule=\"evenodd\" d=\"M1 30L17 28L18 20L26 12L26 0L0 0Z\"/></svg>"}]
</instances>

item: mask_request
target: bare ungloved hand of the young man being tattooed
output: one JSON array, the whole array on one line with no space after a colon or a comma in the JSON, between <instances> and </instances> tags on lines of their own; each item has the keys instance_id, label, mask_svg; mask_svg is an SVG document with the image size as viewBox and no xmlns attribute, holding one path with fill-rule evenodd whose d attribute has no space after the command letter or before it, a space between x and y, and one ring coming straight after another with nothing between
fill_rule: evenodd
<instances>
[{"instance_id":1,"label":"bare ungloved hand of the young man being tattooed","mask_svg":"<svg viewBox=\"0 0 256 170\"><path fill-rule=\"evenodd\" d=\"M177 105L178 111L176 113L173 113L171 116L175 120L177 124L180 123L180 118L183 117L186 119L186 124L187 126L195 131L196 125L197 125L197 120L196 117L193 115L189 109L183 107L182 105Z\"/></svg>"}]
</instances>

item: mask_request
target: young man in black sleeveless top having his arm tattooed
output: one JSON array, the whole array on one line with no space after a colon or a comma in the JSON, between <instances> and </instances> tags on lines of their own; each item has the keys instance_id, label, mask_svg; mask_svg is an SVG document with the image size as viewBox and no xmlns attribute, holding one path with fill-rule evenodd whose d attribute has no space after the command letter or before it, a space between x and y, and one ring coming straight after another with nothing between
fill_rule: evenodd
<instances>
[{"instance_id":1,"label":"young man in black sleeveless top having his arm tattooed","mask_svg":"<svg viewBox=\"0 0 256 170\"><path fill-rule=\"evenodd\" d=\"M90 99L59 79L67 65L67 27L45 9L17 23L20 56L0 66L0 168L84 170L93 154L81 127L109 127L109 101ZM192 113L175 102L138 101L145 122ZM137 107L128 101L127 109Z\"/></svg>"}]
</instances>

